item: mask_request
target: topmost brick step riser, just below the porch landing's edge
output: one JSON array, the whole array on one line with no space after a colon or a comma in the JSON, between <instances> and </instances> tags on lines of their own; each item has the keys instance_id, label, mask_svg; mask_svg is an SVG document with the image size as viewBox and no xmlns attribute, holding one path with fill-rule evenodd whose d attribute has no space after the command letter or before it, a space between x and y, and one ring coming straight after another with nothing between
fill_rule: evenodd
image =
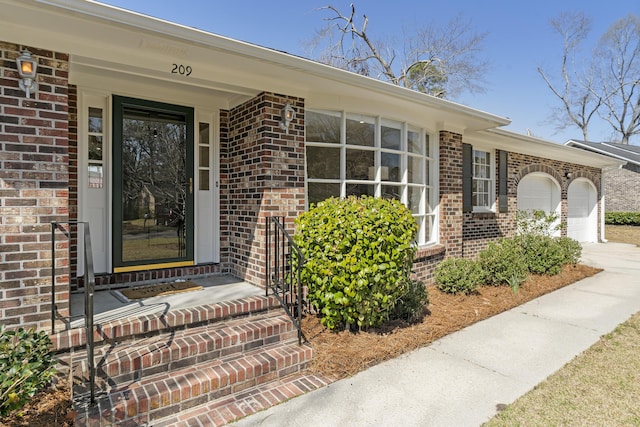
<instances>
[{"instance_id":1,"label":"topmost brick step riser, just below the porch landing's edge","mask_svg":"<svg viewBox=\"0 0 640 427\"><path fill-rule=\"evenodd\" d=\"M243 353L264 345L274 344L276 342L285 342L297 337L297 331L291 323L279 325L278 328L273 327L276 334L267 334L266 329L262 329L257 334L258 337L250 341L242 340L224 340L221 342L215 339L204 339L198 344L192 344L181 348L168 348L162 346L156 350L148 351L143 356L128 357L122 354L116 355L115 360L106 362L102 356L96 357L96 387L97 389L105 389L109 384L136 381L144 377L155 375L161 372L170 372L193 366L198 363L206 363L211 360L227 357L233 354ZM232 337L236 338L236 337ZM185 343L186 344L186 343ZM88 383L88 367L86 360L82 355L74 357L78 362L74 363L74 381ZM101 363L102 362L102 363ZM78 392L82 388L78 387Z\"/></svg>"}]
</instances>

